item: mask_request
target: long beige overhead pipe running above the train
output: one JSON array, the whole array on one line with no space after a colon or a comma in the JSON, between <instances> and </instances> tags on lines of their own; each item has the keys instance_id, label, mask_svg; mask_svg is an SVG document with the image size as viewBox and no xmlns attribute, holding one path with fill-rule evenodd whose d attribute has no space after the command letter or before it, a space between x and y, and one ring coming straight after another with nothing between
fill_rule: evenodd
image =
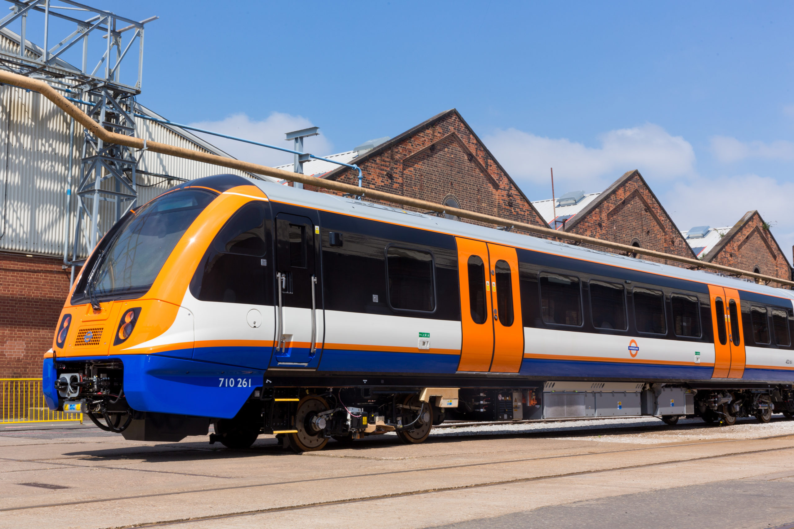
<instances>
[{"instance_id":1,"label":"long beige overhead pipe running above the train","mask_svg":"<svg viewBox=\"0 0 794 529\"><path fill-rule=\"evenodd\" d=\"M87 113L84 113L83 110L77 107L77 105L72 104L70 101L64 98L64 96L62 96L57 90L52 88L52 86L49 86L44 81L40 81L38 79L29 79L24 75L13 74L10 71L0 71L0 82L5 82L6 84L9 85L19 86L20 88L35 90L39 92L40 94L44 95L45 98L48 98L50 101L58 105L60 109L63 109L65 113L67 113L71 117L74 117L75 121L78 121L80 125L83 125L83 127L93 132L95 136L97 136L106 143L126 145L127 147L136 148L136 149L144 148L144 140L142 140L141 138L136 138L133 136L124 136L123 134L110 132L109 130L100 127L99 124L96 121L92 120ZM449 213L451 215L456 215L457 217L461 217L469 220L478 220L486 224L497 224L499 226L518 228L526 232L536 233L538 235L552 237L555 239L572 240L573 242L576 243L587 243L587 244L593 244L595 246L607 247L610 248L611 250L617 250L626 253L626 255L630 255L630 254L648 255L649 257L655 257L657 259L667 259L669 261L675 261L676 263L688 264L695 268L709 268L711 270L719 270L720 272L725 272L726 274L730 274L730 275L736 275L736 276L744 275L750 278L760 279L761 281L765 281L765 282L775 282L781 285L794 286L794 281L788 281L787 279L781 279L781 278L774 278L772 276L764 275L764 274L755 274L754 272L747 272L746 270L739 270L738 268L732 268L730 266L723 266L715 263L704 263L703 261L699 261L698 259L689 259L687 257L680 257L679 255L665 254L664 252L661 251L646 250L645 248L629 246L628 244L612 243L607 240L600 240L592 237L576 235L575 233L558 232L557 230L553 230L551 228L543 228L541 226L535 226L534 224L526 224L523 222L516 222L515 220L493 217L491 215L484 215L483 213L475 213L473 211L468 211L466 209L450 208L449 206L446 205L419 200L418 198L403 197L391 193L384 193L383 191L372 190L359 186L351 186L350 184L345 184L342 182L326 180L324 178L315 178L314 176L306 176L305 174L293 173L291 171L283 171L281 169L276 169L274 167L267 167L264 165L259 165L257 163L243 162L242 160L225 158L223 156L218 156L218 155L211 155L206 152L191 151L190 149L174 147L173 145L168 145L168 144L161 144L160 142L156 142L156 141L147 141L146 148L148 149L148 151L159 152L160 154L164 154L164 155L171 155L171 156L176 156L178 158L191 159L191 160L195 160L196 162L210 163L212 165L218 165L221 167L229 167L229 169L237 169L239 171L245 171L254 174L264 174L266 176L272 176L274 178L280 178L282 180L289 180L291 182L301 182L309 186L322 187L323 189L326 190L339 191L341 193L349 193L355 195L364 195L368 198L373 198L385 202L391 202L394 204L407 205L412 208L435 211L438 213Z\"/></svg>"}]
</instances>

